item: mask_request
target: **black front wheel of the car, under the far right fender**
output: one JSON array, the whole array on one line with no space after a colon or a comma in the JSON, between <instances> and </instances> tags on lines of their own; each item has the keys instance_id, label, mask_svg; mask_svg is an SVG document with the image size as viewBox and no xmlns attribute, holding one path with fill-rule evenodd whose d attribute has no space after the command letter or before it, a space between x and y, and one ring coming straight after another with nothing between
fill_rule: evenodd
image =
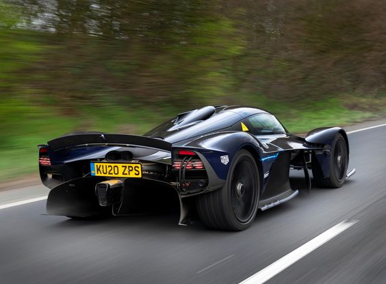
<instances>
[{"instance_id":1,"label":"black front wheel of the car, under the far right fender","mask_svg":"<svg viewBox=\"0 0 386 284\"><path fill-rule=\"evenodd\" d=\"M346 140L337 133L330 153L330 177L324 178L317 161L313 160L312 175L321 188L340 188L346 181L348 151Z\"/></svg>"}]
</instances>

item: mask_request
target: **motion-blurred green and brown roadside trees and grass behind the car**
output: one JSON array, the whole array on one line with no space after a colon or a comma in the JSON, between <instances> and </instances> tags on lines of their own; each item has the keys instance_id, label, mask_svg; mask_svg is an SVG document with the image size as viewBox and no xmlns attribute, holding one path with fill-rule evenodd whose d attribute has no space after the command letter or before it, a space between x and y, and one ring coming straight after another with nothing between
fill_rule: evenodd
<instances>
[{"instance_id":1,"label":"motion-blurred green and brown roadside trees and grass behind the car","mask_svg":"<svg viewBox=\"0 0 386 284\"><path fill-rule=\"evenodd\" d=\"M385 114L378 0L0 0L0 179L70 131L246 104L289 131ZM12 161L23 161L14 164Z\"/></svg>"}]
</instances>

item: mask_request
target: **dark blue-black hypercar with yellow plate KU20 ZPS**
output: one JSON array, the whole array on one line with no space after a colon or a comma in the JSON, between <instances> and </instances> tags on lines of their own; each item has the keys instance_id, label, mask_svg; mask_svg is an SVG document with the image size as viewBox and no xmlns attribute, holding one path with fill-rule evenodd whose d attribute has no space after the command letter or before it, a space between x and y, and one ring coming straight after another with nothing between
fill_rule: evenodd
<instances>
[{"instance_id":1,"label":"dark blue-black hypercar with yellow plate KU20 ZPS","mask_svg":"<svg viewBox=\"0 0 386 284\"><path fill-rule=\"evenodd\" d=\"M198 216L209 228L238 231L258 209L298 194L291 168L304 170L307 188L309 169L319 186L342 186L355 172L347 173L348 154L340 127L300 138L262 109L222 105L178 114L142 136L64 135L39 145L39 168L50 215L136 214L178 200L179 224Z\"/></svg>"}]
</instances>

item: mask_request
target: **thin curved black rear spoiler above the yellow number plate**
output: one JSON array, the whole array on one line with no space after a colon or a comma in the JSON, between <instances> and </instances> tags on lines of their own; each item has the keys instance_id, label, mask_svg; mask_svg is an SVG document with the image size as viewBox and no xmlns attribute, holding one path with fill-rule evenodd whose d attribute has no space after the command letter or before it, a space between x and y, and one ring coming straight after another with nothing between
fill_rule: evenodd
<instances>
[{"instance_id":1,"label":"thin curved black rear spoiler above the yellow number plate","mask_svg":"<svg viewBox=\"0 0 386 284\"><path fill-rule=\"evenodd\" d=\"M150 138L126 134L76 134L56 138L48 142L50 150L59 150L75 146L140 146L144 148L171 152L172 144L160 138Z\"/></svg>"}]
</instances>

